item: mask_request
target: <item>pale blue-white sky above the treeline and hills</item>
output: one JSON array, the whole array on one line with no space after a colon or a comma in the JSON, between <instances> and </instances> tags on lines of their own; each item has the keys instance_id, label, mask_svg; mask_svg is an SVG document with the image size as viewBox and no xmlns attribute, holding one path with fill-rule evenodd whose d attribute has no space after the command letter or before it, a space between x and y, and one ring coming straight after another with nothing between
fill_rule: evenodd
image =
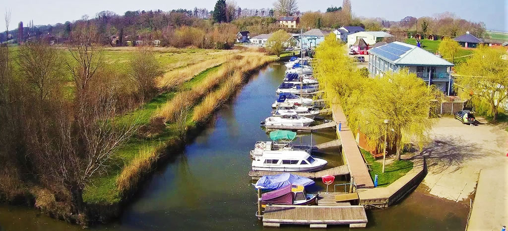
<instances>
[{"instance_id":1,"label":"pale blue-white sky above the treeline and hills","mask_svg":"<svg viewBox=\"0 0 508 231\"><path fill-rule=\"evenodd\" d=\"M17 27L20 21L25 25L34 20L35 25L64 23L78 20L83 15L94 17L96 13L109 10L122 15L128 10L163 10L207 8L213 10L214 0L25 0L22 2L2 0L0 6L11 11L9 29ZM275 0L236 0L241 8L272 8ZM405 16L434 16L436 13L452 12L458 17L474 22L484 22L489 30L508 31L508 0L351 0L356 16L380 17L399 21ZM341 0L298 0L299 10L326 11L330 6L341 6ZM2 17L4 19L4 17ZM5 23L0 23L5 31Z\"/></svg>"}]
</instances>

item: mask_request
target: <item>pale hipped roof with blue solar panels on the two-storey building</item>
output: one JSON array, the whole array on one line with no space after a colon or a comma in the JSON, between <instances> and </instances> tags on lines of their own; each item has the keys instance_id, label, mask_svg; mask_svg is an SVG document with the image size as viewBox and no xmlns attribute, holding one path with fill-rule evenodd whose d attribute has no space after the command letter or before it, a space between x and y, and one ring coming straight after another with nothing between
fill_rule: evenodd
<instances>
[{"instance_id":1,"label":"pale hipped roof with blue solar panels on the two-storey building","mask_svg":"<svg viewBox=\"0 0 508 231\"><path fill-rule=\"evenodd\" d=\"M453 66L453 63L422 48L401 42L393 42L372 48L369 53L395 65Z\"/></svg>"}]
</instances>

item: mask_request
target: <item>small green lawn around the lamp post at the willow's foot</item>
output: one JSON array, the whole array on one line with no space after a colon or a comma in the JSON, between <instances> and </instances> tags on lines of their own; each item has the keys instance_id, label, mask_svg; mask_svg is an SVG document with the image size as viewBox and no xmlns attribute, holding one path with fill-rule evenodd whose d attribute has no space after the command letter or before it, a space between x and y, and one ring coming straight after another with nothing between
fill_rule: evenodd
<instances>
[{"instance_id":1,"label":"small green lawn around the lamp post at the willow's foot","mask_svg":"<svg viewBox=\"0 0 508 231\"><path fill-rule=\"evenodd\" d=\"M372 181L374 181L374 177L377 174L377 186L378 187L386 187L395 180L404 176L409 170L412 169L413 163L411 161L394 161L389 165L385 166L385 173L383 173L383 163L377 162L370 152L361 149L363 157L367 160L367 163L370 165L370 177Z\"/></svg>"}]
</instances>

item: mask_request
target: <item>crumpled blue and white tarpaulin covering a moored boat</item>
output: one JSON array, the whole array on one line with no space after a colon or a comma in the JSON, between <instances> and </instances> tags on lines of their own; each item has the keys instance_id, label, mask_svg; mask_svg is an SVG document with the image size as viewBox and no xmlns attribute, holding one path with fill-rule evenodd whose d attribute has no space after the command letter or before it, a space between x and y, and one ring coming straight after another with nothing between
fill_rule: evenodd
<instances>
[{"instance_id":1,"label":"crumpled blue and white tarpaulin covering a moored boat","mask_svg":"<svg viewBox=\"0 0 508 231\"><path fill-rule=\"evenodd\" d=\"M291 173L282 173L259 178L258 182L256 182L255 187L266 190L276 190L291 184L302 185L305 187L314 183L315 182L313 180L307 177L297 176Z\"/></svg>"}]
</instances>

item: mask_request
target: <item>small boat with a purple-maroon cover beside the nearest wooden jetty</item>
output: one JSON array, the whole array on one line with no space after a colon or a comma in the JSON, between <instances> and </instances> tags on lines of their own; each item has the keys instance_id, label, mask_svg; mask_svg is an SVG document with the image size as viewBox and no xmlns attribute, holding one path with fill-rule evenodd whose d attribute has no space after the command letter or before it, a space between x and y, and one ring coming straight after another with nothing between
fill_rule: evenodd
<instances>
[{"instance_id":1,"label":"small boat with a purple-maroon cover beside the nearest wooden jetty","mask_svg":"<svg viewBox=\"0 0 508 231\"><path fill-rule=\"evenodd\" d=\"M302 185L289 184L283 188L264 193L261 205L315 205L317 194L307 194Z\"/></svg>"}]
</instances>

